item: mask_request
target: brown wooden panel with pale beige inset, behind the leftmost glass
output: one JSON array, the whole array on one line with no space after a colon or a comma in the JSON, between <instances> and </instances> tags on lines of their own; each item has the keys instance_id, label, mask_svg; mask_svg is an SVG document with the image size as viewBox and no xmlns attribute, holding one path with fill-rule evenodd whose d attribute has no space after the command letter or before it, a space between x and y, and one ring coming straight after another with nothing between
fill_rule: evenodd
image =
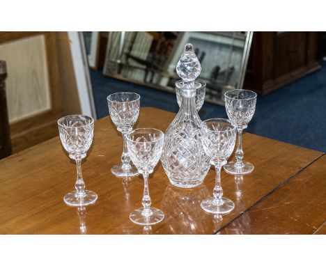
<instances>
[{"instance_id":1,"label":"brown wooden panel with pale beige inset, behind the leftmost glass","mask_svg":"<svg viewBox=\"0 0 326 266\"><path fill-rule=\"evenodd\" d=\"M81 108L66 31L0 31L0 47L0 60L12 62L7 93L15 153L57 136L56 121Z\"/></svg>"}]
</instances>

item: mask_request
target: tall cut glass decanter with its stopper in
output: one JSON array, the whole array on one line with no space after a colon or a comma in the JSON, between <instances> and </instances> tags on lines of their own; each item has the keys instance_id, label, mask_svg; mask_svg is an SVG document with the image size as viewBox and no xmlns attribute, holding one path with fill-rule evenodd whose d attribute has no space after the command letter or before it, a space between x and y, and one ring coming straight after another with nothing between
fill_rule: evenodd
<instances>
[{"instance_id":1,"label":"tall cut glass decanter with its stopper in","mask_svg":"<svg viewBox=\"0 0 326 266\"><path fill-rule=\"evenodd\" d=\"M201 118L196 111L196 90L205 82L196 81L201 64L191 44L185 45L176 71L182 79L176 88L183 93L180 110L165 132L161 156L162 166L172 185L196 187L201 185L210 169L210 159L201 146Z\"/></svg>"}]
</instances>

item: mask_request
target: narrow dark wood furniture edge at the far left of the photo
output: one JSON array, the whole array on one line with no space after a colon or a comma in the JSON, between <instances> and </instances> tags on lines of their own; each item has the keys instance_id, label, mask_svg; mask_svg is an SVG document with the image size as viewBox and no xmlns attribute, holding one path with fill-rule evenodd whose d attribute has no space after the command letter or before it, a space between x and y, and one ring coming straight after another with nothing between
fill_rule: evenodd
<instances>
[{"instance_id":1,"label":"narrow dark wood furniture edge at the far left of the photo","mask_svg":"<svg viewBox=\"0 0 326 266\"><path fill-rule=\"evenodd\" d=\"M10 129L6 100L6 62L0 60L0 159L11 154Z\"/></svg>"}]
</instances>

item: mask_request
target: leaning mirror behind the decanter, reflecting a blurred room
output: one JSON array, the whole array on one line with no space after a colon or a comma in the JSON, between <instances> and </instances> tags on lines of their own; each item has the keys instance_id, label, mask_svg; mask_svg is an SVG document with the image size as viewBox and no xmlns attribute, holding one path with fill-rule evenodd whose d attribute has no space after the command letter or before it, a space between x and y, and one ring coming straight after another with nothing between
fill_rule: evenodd
<instances>
[{"instance_id":1,"label":"leaning mirror behind the decanter, reflecting a blurred room","mask_svg":"<svg viewBox=\"0 0 326 266\"><path fill-rule=\"evenodd\" d=\"M240 86L249 35L237 31L109 32L103 74L174 93L176 63L185 43L191 42L201 62L199 79L207 83L205 100L224 104L224 92Z\"/></svg>"}]
</instances>

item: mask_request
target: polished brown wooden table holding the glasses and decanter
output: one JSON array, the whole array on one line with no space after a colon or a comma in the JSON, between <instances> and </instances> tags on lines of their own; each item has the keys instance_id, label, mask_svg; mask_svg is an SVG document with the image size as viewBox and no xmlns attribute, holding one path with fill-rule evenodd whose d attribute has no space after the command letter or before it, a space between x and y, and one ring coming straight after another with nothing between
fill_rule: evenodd
<instances>
[{"instance_id":1,"label":"polished brown wooden table holding the glasses and decanter","mask_svg":"<svg viewBox=\"0 0 326 266\"><path fill-rule=\"evenodd\" d=\"M174 116L142 108L136 127L166 130ZM235 202L233 212L220 219L201 210L200 201L212 194L213 169L199 187L179 189L158 164L150 176L150 196L165 218L155 226L137 226L129 214L141 207L143 180L111 174L121 157L122 138L111 120L102 118L95 122L93 146L82 164L86 189L95 191L98 201L86 208L63 202L75 185L76 168L56 137L0 161L0 233L325 233L323 152L249 133L243 136L243 148L254 172L243 177L222 172L224 195Z\"/></svg>"}]
</instances>

